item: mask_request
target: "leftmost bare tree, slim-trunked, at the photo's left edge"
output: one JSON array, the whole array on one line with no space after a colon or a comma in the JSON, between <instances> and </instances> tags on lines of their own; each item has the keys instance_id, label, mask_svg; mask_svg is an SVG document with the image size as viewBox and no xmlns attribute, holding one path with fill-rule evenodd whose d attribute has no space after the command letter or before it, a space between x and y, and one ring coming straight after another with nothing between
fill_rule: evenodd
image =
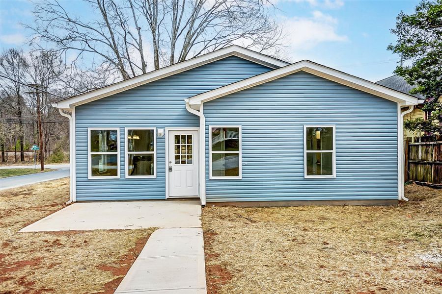
<instances>
[{"instance_id":1,"label":"leftmost bare tree, slim-trunked, at the photo's left edge","mask_svg":"<svg viewBox=\"0 0 442 294\"><path fill-rule=\"evenodd\" d=\"M9 49L0 56L0 88L2 90L0 99L19 121L20 161L25 161L22 114L25 106L23 85L26 84L27 68L28 62L22 50Z\"/></svg>"}]
</instances>

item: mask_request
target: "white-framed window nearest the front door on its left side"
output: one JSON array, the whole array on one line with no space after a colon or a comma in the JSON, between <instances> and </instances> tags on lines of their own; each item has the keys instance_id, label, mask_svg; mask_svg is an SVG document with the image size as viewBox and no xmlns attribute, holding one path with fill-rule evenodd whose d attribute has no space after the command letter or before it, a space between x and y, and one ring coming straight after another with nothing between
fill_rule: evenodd
<instances>
[{"instance_id":1,"label":"white-framed window nearest the front door on its left side","mask_svg":"<svg viewBox=\"0 0 442 294\"><path fill-rule=\"evenodd\" d=\"M156 177L156 129L126 128L126 177Z\"/></svg>"}]
</instances>

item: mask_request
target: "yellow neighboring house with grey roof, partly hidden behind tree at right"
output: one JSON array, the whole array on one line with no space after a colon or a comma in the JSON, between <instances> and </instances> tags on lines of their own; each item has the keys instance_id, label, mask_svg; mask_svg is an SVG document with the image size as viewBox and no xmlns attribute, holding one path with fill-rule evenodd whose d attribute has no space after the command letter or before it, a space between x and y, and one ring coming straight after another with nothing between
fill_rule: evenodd
<instances>
[{"instance_id":1,"label":"yellow neighboring house with grey roof, partly hidden behind tree at right","mask_svg":"<svg viewBox=\"0 0 442 294\"><path fill-rule=\"evenodd\" d=\"M406 94L410 94L410 91L413 90L415 87L410 85L409 83L407 83L407 81L402 77L399 76L397 74L389 76L385 79L382 79L380 81L376 82L377 84L386 86L390 89L396 90L396 91L400 91L402 93L406 93ZM414 97L418 98L419 100L424 101L425 97L421 94L416 94L414 95ZM423 106L422 103L418 104L416 107L414 107L413 111L410 113L407 113L404 116L404 121L408 121L408 120L414 120L417 118L421 118L421 119L426 119L426 113L425 111L421 110L420 108ZM420 137L424 134L421 134L420 132L417 131L410 131L407 129L404 129L404 138L414 138L414 137Z\"/></svg>"}]
</instances>

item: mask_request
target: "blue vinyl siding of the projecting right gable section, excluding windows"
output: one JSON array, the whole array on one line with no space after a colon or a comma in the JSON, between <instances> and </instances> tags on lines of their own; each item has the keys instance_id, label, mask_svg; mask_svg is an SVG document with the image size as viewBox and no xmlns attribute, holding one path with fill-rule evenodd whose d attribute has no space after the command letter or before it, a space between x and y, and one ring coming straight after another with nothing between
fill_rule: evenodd
<instances>
[{"instance_id":1,"label":"blue vinyl siding of the projecting right gable section, excluding windows","mask_svg":"<svg viewBox=\"0 0 442 294\"><path fill-rule=\"evenodd\" d=\"M397 199L397 103L299 72L204 103L206 197ZM242 125L242 179L209 180L209 125ZM304 124L336 125L336 178L304 178Z\"/></svg>"}]
</instances>

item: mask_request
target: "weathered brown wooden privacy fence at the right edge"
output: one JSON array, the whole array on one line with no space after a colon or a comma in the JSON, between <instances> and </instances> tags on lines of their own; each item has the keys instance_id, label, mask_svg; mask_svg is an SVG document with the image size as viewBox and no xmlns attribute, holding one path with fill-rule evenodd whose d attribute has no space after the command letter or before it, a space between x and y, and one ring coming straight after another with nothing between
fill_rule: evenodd
<instances>
[{"instance_id":1,"label":"weathered brown wooden privacy fence at the right edge","mask_svg":"<svg viewBox=\"0 0 442 294\"><path fill-rule=\"evenodd\" d=\"M405 141L405 180L442 187L442 136Z\"/></svg>"}]
</instances>

